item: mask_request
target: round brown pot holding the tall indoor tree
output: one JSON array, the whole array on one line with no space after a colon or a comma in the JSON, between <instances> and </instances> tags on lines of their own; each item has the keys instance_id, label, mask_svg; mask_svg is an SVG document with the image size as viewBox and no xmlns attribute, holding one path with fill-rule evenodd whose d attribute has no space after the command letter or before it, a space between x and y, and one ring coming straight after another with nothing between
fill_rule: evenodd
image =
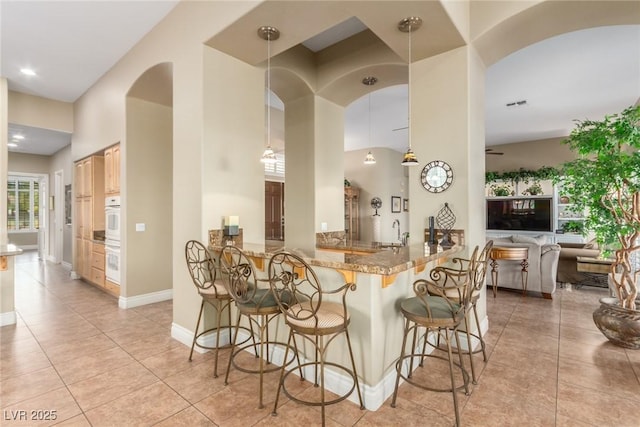
<instances>
[{"instance_id":1,"label":"round brown pot holding the tall indoor tree","mask_svg":"<svg viewBox=\"0 0 640 427\"><path fill-rule=\"evenodd\" d=\"M593 321L609 341L620 347L640 349L640 310L622 308L616 298L601 298Z\"/></svg>"}]
</instances>

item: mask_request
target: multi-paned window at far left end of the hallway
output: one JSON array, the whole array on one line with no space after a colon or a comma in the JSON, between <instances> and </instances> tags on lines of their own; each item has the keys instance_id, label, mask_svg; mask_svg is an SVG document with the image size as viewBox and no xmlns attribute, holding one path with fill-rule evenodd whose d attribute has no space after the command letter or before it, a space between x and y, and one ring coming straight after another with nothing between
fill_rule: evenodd
<instances>
[{"instance_id":1,"label":"multi-paned window at far left end of the hallway","mask_svg":"<svg viewBox=\"0 0 640 427\"><path fill-rule=\"evenodd\" d=\"M7 182L7 230L40 228L40 184L37 177L9 175Z\"/></svg>"}]
</instances>

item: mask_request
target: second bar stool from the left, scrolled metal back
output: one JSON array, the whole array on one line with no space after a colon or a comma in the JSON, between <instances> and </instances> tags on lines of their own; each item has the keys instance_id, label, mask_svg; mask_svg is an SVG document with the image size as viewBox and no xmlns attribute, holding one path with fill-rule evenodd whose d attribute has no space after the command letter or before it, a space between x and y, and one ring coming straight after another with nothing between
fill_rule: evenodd
<instances>
[{"instance_id":1,"label":"second bar stool from the left, scrolled metal back","mask_svg":"<svg viewBox=\"0 0 640 427\"><path fill-rule=\"evenodd\" d=\"M275 372L280 369L278 365L271 365L269 346L279 345L275 341L269 341L269 324L277 316L281 314L280 306L276 301L273 292L265 283L263 287L259 286L260 280L257 278L253 263L247 255L235 246L225 246L220 254L220 270L224 279L225 286L231 294L238 309L238 321L236 322L236 333L232 343L231 355L229 356L229 364L227 373L224 378L224 384L229 384L229 371L231 364L234 368L241 372L259 374L260 376L260 395L258 408L264 408L263 392L264 392L264 374ZM244 316L251 330L252 342L248 340L237 343L238 329L240 328L240 319ZM257 328L257 334L254 333L254 326ZM255 335L258 336L258 342L255 341ZM235 358L244 350L253 348L257 358L259 358L259 367L257 369L241 366L236 362ZM285 355L284 361L287 360ZM266 361L266 364L265 364ZM290 363L283 363L283 366ZM266 366L265 366L266 365ZM269 366L271 365L271 366Z\"/></svg>"}]
</instances>

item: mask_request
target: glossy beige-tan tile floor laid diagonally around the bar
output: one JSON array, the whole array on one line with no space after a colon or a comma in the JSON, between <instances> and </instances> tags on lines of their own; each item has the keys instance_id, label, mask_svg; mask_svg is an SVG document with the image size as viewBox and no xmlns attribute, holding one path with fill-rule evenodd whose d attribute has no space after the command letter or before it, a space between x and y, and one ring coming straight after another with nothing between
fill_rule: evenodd
<instances>
[{"instance_id":1,"label":"glossy beige-tan tile floor laid diagonally around the bar","mask_svg":"<svg viewBox=\"0 0 640 427\"><path fill-rule=\"evenodd\" d=\"M489 296L489 361L476 359L479 383L470 396L460 394L462 425L640 425L640 351L611 345L591 319L605 293L569 286L552 301L505 290ZM3 426L320 423L317 408L290 401L270 415L277 374L268 376L266 408L259 410L256 376L233 371L224 386L212 377L211 353L188 362L189 349L170 337L171 302L121 310L115 298L26 253L16 260L16 309L17 325L0 328ZM221 357L226 367L228 351ZM441 369L425 366L417 375ZM28 419L13 420L18 411ZM31 419L47 411L55 421ZM330 426L453 424L449 394L408 384L396 409L386 402L361 411L346 401L327 414Z\"/></svg>"}]
</instances>

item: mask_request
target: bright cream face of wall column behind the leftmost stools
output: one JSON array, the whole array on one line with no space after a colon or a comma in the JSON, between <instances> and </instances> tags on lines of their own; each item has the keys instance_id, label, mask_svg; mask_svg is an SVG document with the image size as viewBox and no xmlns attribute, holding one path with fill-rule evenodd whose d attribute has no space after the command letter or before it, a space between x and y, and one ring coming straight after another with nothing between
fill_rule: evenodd
<instances>
[{"instance_id":1,"label":"bright cream face of wall column behind the leftmost stools","mask_svg":"<svg viewBox=\"0 0 640 427\"><path fill-rule=\"evenodd\" d=\"M202 229L220 229L223 217L237 215L244 241L261 242L264 71L211 48L204 54Z\"/></svg>"}]
</instances>

